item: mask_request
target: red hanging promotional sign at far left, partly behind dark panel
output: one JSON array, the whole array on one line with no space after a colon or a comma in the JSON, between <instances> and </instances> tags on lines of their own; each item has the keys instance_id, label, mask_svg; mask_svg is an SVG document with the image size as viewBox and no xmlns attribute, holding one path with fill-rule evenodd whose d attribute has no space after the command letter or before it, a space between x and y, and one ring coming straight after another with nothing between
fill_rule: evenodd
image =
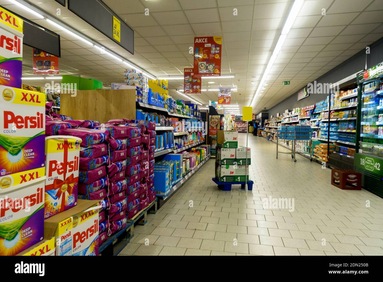
<instances>
[{"instance_id":1,"label":"red hanging promotional sign at far left, partly behind dark panel","mask_svg":"<svg viewBox=\"0 0 383 282\"><path fill-rule=\"evenodd\" d=\"M59 74L59 57L33 48L33 74Z\"/></svg>"}]
</instances>

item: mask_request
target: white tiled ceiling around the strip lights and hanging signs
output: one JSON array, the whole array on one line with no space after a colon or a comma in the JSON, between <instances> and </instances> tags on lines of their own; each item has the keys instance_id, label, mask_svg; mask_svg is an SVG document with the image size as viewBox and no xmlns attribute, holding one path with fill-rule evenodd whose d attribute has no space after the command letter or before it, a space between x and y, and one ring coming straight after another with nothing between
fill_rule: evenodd
<instances>
[{"instance_id":1,"label":"white tiled ceiling around the strip lights and hanging signs","mask_svg":"<svg viewBox=\"0 0 383 282\"><path fill-rule=\"evenodd\" d=\"M221 72L235 74L235 78L203 79L202 87L214 89L219 84L234 84L237 92L232 92L232 102L241 106L249 106L254 97L293 3L292 0L104 0L134 29L132 55L57 2L29 2L51 15L61 8L59 20L155 76L183 76L183 68L193 65L193 55L188 52L193 38L221 35ZM126 65L110 60L96 48L88 48L89 45L58 31L45 20L34 19L15 5L9 5L7 0L0 0L0 4L62 36L60 74L81 74L106 85L122 81ZM147 16L145 8L149 8ZM237 16L233 15L234 8ZM257 97L254 112L264 107L269 109L381 38L382 12L383 0L305 0L268 75L268 85ZM30 48L24 48L24 75L33 74L31 54ZM285 80L291 81L290 86L282 85ZM183 88L182 82L182 79L169 80L173 97L182 98L175 92ZM216 101L217 95L217 91L203 91L190 96L207 103Z\"/></svg>"}]
</instances>

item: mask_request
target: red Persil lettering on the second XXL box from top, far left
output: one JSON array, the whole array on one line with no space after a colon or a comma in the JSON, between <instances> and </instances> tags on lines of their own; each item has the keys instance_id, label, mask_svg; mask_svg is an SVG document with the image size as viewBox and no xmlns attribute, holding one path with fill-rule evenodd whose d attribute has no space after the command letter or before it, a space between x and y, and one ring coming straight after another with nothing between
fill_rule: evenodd
<instances>
[{"instance_id":1,"label":"red Persil lettering on the second XXL box from top, far left","mask_svg":"<svg viewBox=\"0 0 383 282\"><path fill-rule=\"evenodd\" d=\"M34 129L34 128L43 128L43 119L44 115L42 113L37 112L36 116L22 116L15 115L14 112L5 110L4 111L4 129L9 129L13 127L15 124L16 129Z\"/></svg>"}]
</instances>

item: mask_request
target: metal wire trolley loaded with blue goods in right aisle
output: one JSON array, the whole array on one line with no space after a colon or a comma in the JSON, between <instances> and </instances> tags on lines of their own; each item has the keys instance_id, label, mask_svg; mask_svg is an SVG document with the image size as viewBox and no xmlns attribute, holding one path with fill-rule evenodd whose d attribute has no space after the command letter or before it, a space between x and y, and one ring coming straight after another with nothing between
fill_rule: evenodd
<instances>
[{"instance_id":1,"label":"metal wire trolley loaded with blue goods in right aisle","mask_svg":"<svg viewBox=\"0 0 383 282\"><path fill-rule=\"evenodd\" d=\"M278 151L278 143L279 141L288 141L288 145L283 145L282 147L290 149L291 143L291 152L280 152ZM297 143L301 143L304 148L307 148L307 152L304 152L305 149L299 150L296 148ZM312 161L311 157L311 127L304 125L281 125L277 131L277 159L278 153L289 154L291 158L293 158L294 162L296 162L295 154L300 155L308 155L310 157L310 161Z\"/></svg>"}]
</instances>

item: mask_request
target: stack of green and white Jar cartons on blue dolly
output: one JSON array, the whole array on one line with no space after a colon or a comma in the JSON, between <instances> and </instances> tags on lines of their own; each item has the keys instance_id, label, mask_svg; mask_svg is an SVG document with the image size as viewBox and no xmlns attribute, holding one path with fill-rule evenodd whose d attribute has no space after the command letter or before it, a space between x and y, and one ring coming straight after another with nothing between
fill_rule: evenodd
<instances>
[{"instance_id":1,"label":"stack of green and white Jar cartons on blue dolly","mask_svg":"<svg viewBox=\"0 0 383 282\"><path fill-rule=\"evenodd\" d=\"M238 132L218 130L216 178L222 182L248 181L250 164L250 148L238 147Z\"/></svg>"}]
</instances>

